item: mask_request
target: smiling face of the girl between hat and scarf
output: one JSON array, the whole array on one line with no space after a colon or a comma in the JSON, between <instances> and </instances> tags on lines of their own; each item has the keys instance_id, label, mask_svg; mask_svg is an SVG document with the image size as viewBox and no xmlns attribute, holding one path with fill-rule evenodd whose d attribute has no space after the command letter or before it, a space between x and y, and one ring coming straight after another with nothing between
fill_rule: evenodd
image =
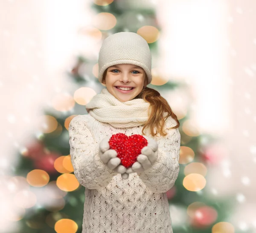
<instances>
[{"instance_id":1,"label":"smiling face of the girl between hat and scarf","mask_svg":"<svg viewBox=\"0 0 256 233\"><path fill-rule=\"evenodd\" d=\"M143 68L132 64L113 65L107 69L105 80L102 81L109 93L121 102L137 97L147 85ZM117 87L132 87L132 90L120 90ZM130 89L130 88L129 88Z\"/></svg>"}]
</instances>

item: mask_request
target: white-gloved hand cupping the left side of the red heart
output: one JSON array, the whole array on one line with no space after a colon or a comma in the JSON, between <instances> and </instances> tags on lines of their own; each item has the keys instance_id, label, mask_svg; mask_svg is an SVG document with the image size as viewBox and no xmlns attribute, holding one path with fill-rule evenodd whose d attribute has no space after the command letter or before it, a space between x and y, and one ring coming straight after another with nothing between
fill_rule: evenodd
<instances>
[{"instance_id":1,"label":"white-gloved hand cupping the left side of the red heart","mask_svg":"<svg viewBox=\"0 0 256 233\"><path fill-rule=\"evenodd\" d=\"M126 168L123 165L120 165L121 159L117 156L115 150L110 149L109 139L111 136L106 136L99 143L99 156L102 162L108 166L109 169L113 170L116 173L123 174L126 172ZM128 178L128 177L127 177Z\"/></svg>"}]
</instances>

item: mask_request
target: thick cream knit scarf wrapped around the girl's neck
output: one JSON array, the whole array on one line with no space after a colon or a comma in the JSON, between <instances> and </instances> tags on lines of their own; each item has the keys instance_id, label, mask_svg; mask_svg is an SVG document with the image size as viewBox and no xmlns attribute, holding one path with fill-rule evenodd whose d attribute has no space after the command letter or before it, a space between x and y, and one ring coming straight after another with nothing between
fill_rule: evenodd
<instances>
[{"instance_id":1,"label":"thick cream knit scarf wrapped around the girl's neck","mask_svg":"<svg viewBox=\"0 0 256 233\"><path fill-rule=\"evenodd\" d=\"M144 99L121 102L107 88L95 95L86 105L88 114L115 128L129 128L144 125L148 120L150 104Z\"/></svg>"}]
</instances>

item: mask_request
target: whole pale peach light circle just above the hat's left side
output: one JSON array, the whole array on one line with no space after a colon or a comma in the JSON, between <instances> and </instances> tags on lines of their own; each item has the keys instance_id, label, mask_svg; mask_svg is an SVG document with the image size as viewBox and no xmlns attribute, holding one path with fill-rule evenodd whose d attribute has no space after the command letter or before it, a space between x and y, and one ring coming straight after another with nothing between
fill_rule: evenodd
<instances>
[{"instance_id":1,"label":"whole pale peach light circle just above the hat's left side","mask_svg":"<svg viewBox=\"0 0 256 233\"><path fill-rule=\"evenodd\" d=\"M109 30L116 26L116 17L107 12L96 14L93 17L93 26L100 30Z\"/></svg>"}]
</instances>

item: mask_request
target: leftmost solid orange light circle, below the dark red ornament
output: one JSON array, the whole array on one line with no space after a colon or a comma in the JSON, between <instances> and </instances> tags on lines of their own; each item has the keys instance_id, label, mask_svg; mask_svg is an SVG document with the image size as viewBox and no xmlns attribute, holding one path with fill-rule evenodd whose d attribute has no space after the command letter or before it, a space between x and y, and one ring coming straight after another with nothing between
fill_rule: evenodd
<instances>
[{"instance_id":1,"label":"leftmost solid orange light circle, below the dark red ornament","mask_svg":"<svg viewBox=\"0 0 256 233\"><path fill-rule=\"evenodd\" d=\"M49 182L49 175L46 171L41 169L34 169L27 174L27 182L34 187L43 187Z\"/></svg>"}]
</instances>

